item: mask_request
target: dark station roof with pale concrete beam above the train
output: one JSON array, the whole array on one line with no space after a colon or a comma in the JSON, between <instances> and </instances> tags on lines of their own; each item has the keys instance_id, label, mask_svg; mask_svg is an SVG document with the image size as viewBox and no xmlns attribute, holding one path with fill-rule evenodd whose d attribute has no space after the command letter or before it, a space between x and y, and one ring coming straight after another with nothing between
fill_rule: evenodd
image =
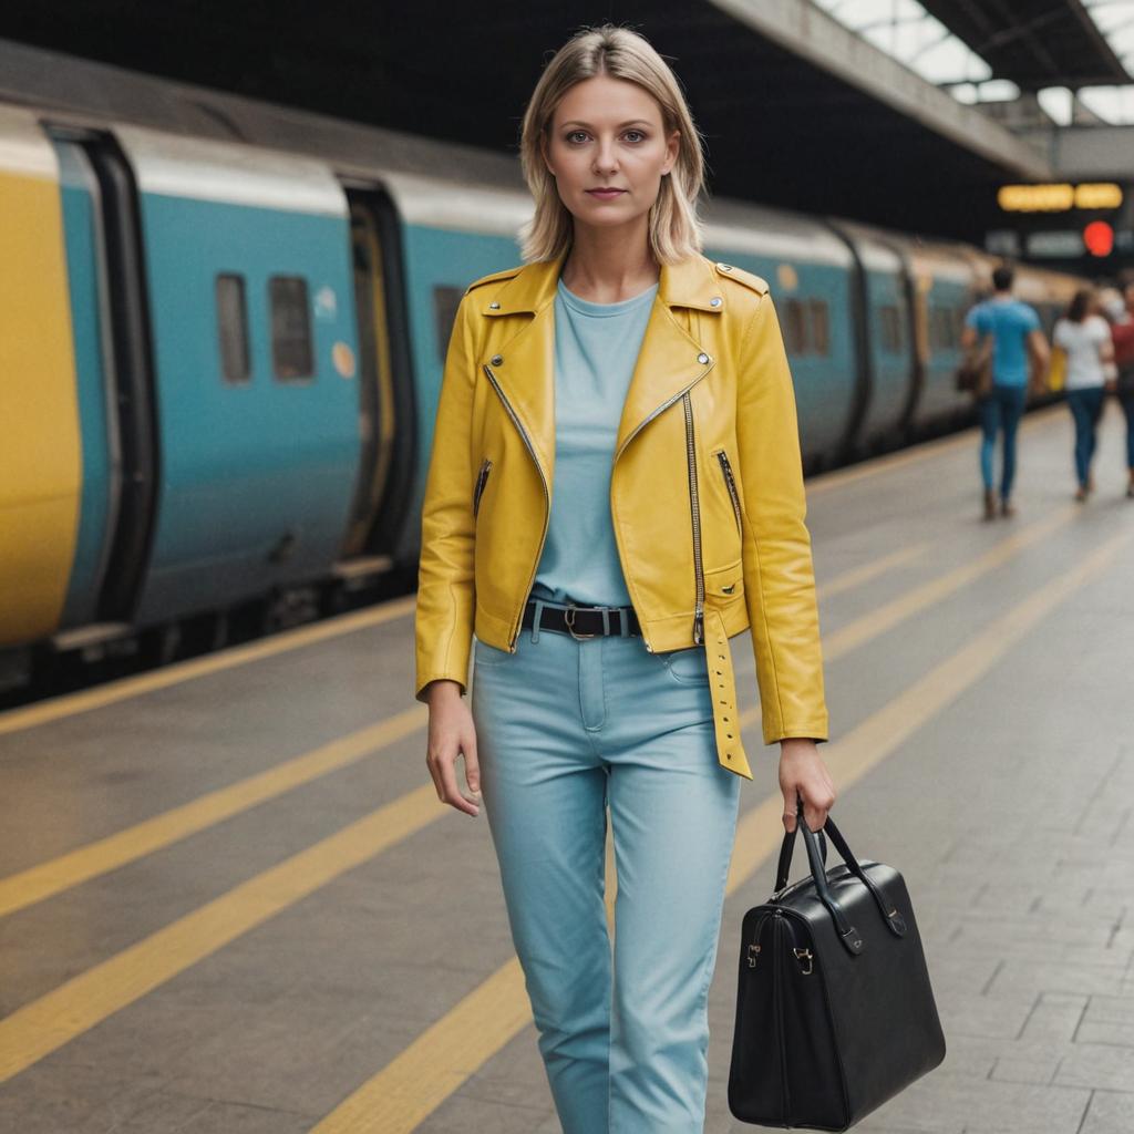
<instances>
[{"instance_id":1,"label":"dark station roof with pale concrete beam above the train","mask_svg":"<svg viewBox=\"0 0 1134 1134\"><path fill-rule=\"evenodd\" d=\"M328 0L316 16L299 0L168 0L155 17L130 0L8 0L0 37L515 155L543 64L584 23L610 19L679 75L714 194L981 239L989 186L1049 177L1047 155L838 24L822 10L835 3ZM1127 81L1081 0L924 7L1021 85Z\"/></svg>"}]
</instances>

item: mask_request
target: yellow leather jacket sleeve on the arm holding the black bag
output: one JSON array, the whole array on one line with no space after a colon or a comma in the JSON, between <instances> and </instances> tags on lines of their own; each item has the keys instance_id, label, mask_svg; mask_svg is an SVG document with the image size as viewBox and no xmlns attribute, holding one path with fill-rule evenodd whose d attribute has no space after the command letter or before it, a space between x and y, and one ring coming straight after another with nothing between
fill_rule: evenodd
<instances>
[{"instance_id":1,"label":"yellow leather jacket sleeve on the arm holding the black bag","mask_svg":"<svg viewBox=\"0 0 1134 1134\"><path fill-rule=\"evenodd\" d=\"M776 307L758 306L737 362L744 593L764 744L828 738L819 609L805 524L795 390Z\"/></svg>"}]
</instances>

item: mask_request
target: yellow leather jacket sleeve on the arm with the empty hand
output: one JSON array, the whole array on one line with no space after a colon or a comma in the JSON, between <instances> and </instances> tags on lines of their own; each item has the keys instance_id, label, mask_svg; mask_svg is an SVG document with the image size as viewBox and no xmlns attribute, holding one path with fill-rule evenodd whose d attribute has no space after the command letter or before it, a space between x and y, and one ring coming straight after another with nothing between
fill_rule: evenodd
<instances>
[{"instance_id":1,"label":"yellow leather jacket sleeve on the arm with the empty hand","mask_svg":"<svg viewBox=\"0 0 1134 1134\"><path fill-rule=\"evenodd\" d=\"M422 501L421 559L414 620L417 675L414 697L438 678L465 694L472 650L475 524L469 431L476 344L468 294L462 297L446 354Z\"/></svg>"}]
</instances>

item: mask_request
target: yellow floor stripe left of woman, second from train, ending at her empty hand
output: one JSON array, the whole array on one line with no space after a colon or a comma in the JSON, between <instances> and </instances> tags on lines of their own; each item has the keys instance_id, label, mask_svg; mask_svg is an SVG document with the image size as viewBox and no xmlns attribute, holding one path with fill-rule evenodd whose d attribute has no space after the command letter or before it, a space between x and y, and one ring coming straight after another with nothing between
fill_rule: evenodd
<instances>
[{"instance_id":1,"label":"yellow floor stripe left of woman, second from train, ending at her empty hand","mask_svg":"<svg viewBox=\"0 0 1134 1134\"><path fill-rule=\"evenodd\" d=\"M67 854L0 879L0 916L117 870L154 850L203 831L257 804L338 771L421 729L425 705L415 704L255 776L217 788L179 807L96 839Z\"/></svg>"}]
</instances>

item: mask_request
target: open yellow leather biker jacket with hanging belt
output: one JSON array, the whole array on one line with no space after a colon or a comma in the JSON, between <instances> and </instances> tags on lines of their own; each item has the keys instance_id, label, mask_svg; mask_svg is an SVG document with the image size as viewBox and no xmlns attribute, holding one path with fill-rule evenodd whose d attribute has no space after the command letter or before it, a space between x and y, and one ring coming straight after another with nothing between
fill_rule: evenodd
<instances>
[{"instance_id":1,"label":"open yellow leather biker jacket with hanging belt","mask_svg":"<svg viewBox=\"0 0 1134 1134\"><path fill-rule=\"evenodd\" d=\"M555 482L553 299L564 257L465 291L422 506L416 693L466 691L472 635L515 652ZM623 406L610 509L652 652L703 646L721 767L752 778L729 637L750 629L763 739L827 739L795 393L768 285L663 264Z\"/></svg>"}]
</instances>

